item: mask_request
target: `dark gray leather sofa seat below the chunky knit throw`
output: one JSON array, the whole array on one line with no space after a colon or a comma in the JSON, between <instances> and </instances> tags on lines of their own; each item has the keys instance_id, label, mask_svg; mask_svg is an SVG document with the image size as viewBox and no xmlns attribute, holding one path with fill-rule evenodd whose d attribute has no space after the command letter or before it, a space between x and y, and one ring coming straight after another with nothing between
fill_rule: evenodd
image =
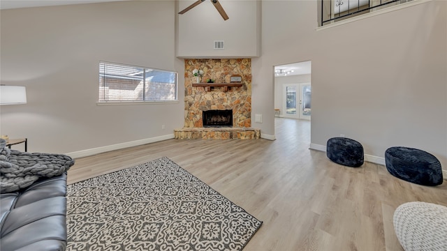
<instances>
[{"instance_id":1,"label":"dark gray leather sofa seat below the chunky knit throw","mask_svg":"<svg viewBox=\"0 0 447 251\"><path fill-rule=\"evenodd\" d=\"M0 250L65 250L66 173L0 195Z\"/></svg>"}]
</instances>

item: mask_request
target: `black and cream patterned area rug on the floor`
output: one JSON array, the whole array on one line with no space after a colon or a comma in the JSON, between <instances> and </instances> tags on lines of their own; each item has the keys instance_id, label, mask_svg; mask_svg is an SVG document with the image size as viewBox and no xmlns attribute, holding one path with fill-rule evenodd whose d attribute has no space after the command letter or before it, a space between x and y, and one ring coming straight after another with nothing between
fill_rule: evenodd
<instances>
[{"instance_id":1,"label":"black and cream patterned area rug on the floor","mask_svg":"<svg viewBox=\"0 0 447 251\"><path fill-rule=\"evenodd\" d=\"M66 250L242 250L261 224L166 157L67 188Z\"/></svg>"}]
</instances>

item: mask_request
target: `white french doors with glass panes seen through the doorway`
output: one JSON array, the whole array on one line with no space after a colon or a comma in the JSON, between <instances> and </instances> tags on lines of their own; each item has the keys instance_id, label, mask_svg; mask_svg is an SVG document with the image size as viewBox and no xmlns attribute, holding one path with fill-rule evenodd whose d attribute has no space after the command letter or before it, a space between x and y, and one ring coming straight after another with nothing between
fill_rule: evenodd
<instances>
[{"instance_id":1,"label":"white french doors with glass panes seen through the doorway","mask_svg":"<svg viewBox=\"0 0 447 251\"><path fill-rule=\"evenodd\" d=\"M310 83L284 84L283 116L291 119L311 117L312 88Z\"/></svg>"}]
</instances>

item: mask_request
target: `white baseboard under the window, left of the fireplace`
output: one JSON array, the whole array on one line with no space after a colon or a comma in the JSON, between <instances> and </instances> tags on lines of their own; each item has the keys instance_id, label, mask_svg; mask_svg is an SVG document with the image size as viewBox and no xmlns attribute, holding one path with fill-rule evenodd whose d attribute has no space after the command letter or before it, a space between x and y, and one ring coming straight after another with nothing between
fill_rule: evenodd
<instances>
[{"instance_id":1,"label":"white baseboard under the window, left of the fireplace","mask_svg":"<svg viewBox=\"0 0 447 251\"><path fill-rule=\"evenodd\" d=\"M143 144L149 144L149 143L154 143L154 142L161 142L163 140L173 139L173 138L174 138L173 134L172 135L163 135L163 136L153 137L153 138L149 138L149 139L139 139L139 140L135 140L133 142L124 142L124 143L114 144L114 145L110 145L110 146L101 146L101 147L97 147L97 148L94 148L94 149L75 151L73 153L65 153L65 154L69 155L71 158L82 158L82 157L95 155L95 154L98 154L98 153L105 153L105 152L108 152L108 151L115 151L115 150L119 150L119 149L125 149L125 148L132 147L132 146L140 146L140 145L143 145Z\"/></svg>"}]
</instances>

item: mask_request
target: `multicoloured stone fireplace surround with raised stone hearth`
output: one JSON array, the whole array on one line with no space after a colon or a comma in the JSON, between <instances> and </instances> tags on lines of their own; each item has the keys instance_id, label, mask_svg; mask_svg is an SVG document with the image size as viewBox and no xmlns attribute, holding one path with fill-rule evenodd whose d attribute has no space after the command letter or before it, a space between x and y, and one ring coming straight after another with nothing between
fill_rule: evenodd
<instances>
[{"instance_id":1,"label":"multicoloured stone fireplace surround with raised stone hearth","mask_svg":"<svg viewBox=\"0 0 447 251\"><path fill-rule=\"evenodd\" d=\"M251 59L185 59L184 128L174 130L176 139L258 139L261 131L251 128ZM242 76L240 87L192 86L193 70L203 70L200 82L230 83L231 75ZM203 111L233 110L233 127L203 127Z\"/></svg>"}]
</instances>

